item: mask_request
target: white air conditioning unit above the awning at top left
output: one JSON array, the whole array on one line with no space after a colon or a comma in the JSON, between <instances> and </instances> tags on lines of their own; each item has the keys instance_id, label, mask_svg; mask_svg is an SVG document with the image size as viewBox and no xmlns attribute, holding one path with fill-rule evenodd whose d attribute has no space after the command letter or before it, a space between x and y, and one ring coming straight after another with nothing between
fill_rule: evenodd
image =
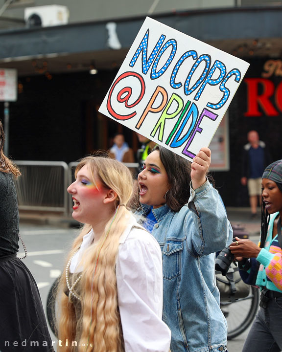
<instances>
[{"instance_id":1,"label":"white air conditioning unit above the awning at top left","mask_svg":"<svg viewBox=\"0 0 282 352\"><path fill-rule=\"evenodd\" d=\"M27 27L66 24L69 21L69 15L68 7L61 5L35 6L24 9L24 21Z\"/></svg>"}]
</instances>

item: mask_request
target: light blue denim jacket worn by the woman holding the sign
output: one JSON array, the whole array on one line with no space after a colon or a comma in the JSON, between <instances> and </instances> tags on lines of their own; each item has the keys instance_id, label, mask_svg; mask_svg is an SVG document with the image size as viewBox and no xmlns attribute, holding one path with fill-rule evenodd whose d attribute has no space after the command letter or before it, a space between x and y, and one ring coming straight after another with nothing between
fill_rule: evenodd
<instances>
[{"instance_id":1,"label":"light blue denim jacket worn by the woman holding the sign","mask_svg":"<svg viewBox=\"0 0 282 352\"><path fill-rule=\"evenodd\" d=\"M150 206L141 204L142 215ZM163 252L163 320L171 330L171 352L225 351L227 323L215 285L215 252L232 241L233 230L218 192L209 181L173 212L153 209L152 235ZM141 214L141 213L140 213Z\"/></svg>"}]
</instances>

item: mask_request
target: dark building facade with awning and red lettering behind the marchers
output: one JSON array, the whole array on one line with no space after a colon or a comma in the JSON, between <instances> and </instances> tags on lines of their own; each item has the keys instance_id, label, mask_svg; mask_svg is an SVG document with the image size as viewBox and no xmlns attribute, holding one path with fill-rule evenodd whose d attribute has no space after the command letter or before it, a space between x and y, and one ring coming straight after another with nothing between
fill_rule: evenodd
<instances>
[{"instance_id":1,"label":"dark building facade with awning and red lettering behind the marchers","mask_svg":"<svg viewBox=\"0 0 282 352\"><path fill-rule=\"evenodd\" d=\"M56 5L28 1L15 1L0 16L0 68L18 72L18 98L9 103L8 151L13 159L75 161L108 149L116 132L123 132L137 150L135 133L98 108L142 22L150 16L250 63L228 109L227 130L214 141L227 145L222 157L228 162L212 172L227 206L248 205L247 190L240 184L247 132L258 131L273 160L282 158L279 3L212 1L211 7L210 1L178 0L171 8L164 0L134 4L85 0L80 6L72 0ZM44 5L51 15L42 11ZM60 6L63 13L58 16ZM32 18L36 14L41 24ZM55 23L47 22L55 15ZM97 73L90 74L91 70ZM4 102L0 106L4 121Z\"/></svg>"}]
</instances>

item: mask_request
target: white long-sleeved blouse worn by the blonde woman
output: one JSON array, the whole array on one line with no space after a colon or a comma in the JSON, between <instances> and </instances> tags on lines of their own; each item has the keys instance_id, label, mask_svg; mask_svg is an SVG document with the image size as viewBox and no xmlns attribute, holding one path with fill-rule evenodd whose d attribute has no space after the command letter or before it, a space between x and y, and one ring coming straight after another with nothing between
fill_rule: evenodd
<instances>
[{"instance_id":1,"label":"white long-sleeved blouse worn by the blonde woman","mask_svg":"<svg viewBox=\"0 0 282 352\"><path fill-rule=\"evenodd\" d=\"M162 321L163 268L159 243L137 222L120 236L116 263L118 307L125 352L168 352L171 332ZM71 260L71 273L92 243L91 230Z\"/></svg>"}]
</instances>

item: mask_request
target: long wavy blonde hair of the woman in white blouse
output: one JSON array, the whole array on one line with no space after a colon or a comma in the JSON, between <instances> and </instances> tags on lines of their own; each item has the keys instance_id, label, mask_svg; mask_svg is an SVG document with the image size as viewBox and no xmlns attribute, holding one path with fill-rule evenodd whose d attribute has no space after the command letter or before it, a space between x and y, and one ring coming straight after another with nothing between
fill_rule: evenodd
<instances>
[{"instance_id":1,"label":"long wavy blonde hair of the woman in white blouse","mask_svg":"<svg viewBox=\"0 0 282 352\"><path fill-rule=\"evenodd\" d=\"M99 242L87 248L81 261L84 269L80 281L75 286L75 291L81 299L81 318L78 321L73 304L63 292L66 287L66 270L60 279L57 294L60 308L58 339L62 341L62 347L58 351L120 352L123 351L123 338L118 312L116 258L120 235L132 221L133 215L126 206L119 204L126 205L129 202L133 179L128 168L115 159L87 156L78 164L75 176L84 165L88 166L94 184L97 181L102 182L105 187L115 191L118 197L116 211L106 224L103 236ZM99 180L94 179L94 171ZM90 230L91 226L84 224L72 244L67 262L79 249L83 236ZM72 275L72 283L74 280ZM72 341L77 342L77 348L70 346Z\"/></svg>"}]
</instances>

